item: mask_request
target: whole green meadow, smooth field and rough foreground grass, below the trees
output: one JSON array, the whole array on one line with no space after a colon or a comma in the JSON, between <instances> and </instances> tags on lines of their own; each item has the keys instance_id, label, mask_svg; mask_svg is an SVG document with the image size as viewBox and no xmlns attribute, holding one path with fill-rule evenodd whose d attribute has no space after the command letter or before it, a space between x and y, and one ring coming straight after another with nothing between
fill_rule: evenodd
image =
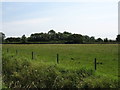
<instances>
[{"instance_id":1,"label":"whole green meadow, smooth field and rough foreground grass, below the trees","mask_svg":"<svg viewBox=\"0 0 120 90\"><path fill-rule=\"evenodd\" d=\"M5 87L118 87L117 44L3 44L2 55Z\"/></svg>"}]
</instances>

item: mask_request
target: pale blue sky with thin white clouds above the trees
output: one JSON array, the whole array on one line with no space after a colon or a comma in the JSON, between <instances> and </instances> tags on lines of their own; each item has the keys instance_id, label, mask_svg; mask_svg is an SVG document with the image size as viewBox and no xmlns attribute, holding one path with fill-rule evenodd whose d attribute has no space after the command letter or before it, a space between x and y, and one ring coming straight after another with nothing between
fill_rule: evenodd
<instances>
[{"instance_id":1,"label":"pale blue sky with thin white clouds above the trees","mask_svg":"<svg viewBox=\"0 0 120 90\"><path fill-rule=\"evenodd\" d=\"M118 2L2 2L2 32L7 37L30 36L51 29L115 39Z\"/></svg>"}]
</instances>

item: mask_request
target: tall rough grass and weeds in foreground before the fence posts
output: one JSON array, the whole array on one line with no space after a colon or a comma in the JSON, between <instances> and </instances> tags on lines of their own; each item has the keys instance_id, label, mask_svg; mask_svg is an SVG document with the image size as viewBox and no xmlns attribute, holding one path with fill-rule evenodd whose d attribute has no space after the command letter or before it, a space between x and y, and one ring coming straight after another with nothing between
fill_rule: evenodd
<instances>
[{"instance_id":1,"label":"tall rough grass and weeds in foreground before the fence posts","mask_svg":"<svg viewBox=\"0 0 120 90\"><path fill-rule=\"evenodd\" d=\"M3 83L7 88L117 88L118 80L96 75L89 68L18 58L3 53Z\"/></svg>"}]
</instances>

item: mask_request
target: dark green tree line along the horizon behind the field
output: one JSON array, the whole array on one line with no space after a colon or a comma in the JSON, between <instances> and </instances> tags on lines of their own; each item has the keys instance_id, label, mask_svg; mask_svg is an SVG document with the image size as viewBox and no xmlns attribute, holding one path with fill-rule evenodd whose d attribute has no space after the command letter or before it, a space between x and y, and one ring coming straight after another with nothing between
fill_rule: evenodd
<instances>
[{"instance_id":1,"label":"dark green tree line along the horizon behind the field","mask_svg":"<svg viewBox=\"0 0 120 90\"><path fill-rule=\"evenodd\" d=\"M50 30L47 33L34 33L29 37L23 35L22 37L7 37L5 38L5 34L0 32L2 43L52 43L52 44L92 44L92 43L118 43L120 42L120 35L117 35L116 40L110 40L108 38L95 39L94 36L89 37L88 35L81 34L72 34L70 32L64 31L55 32L54 30Z\"/></svg>"}]
</instances>

